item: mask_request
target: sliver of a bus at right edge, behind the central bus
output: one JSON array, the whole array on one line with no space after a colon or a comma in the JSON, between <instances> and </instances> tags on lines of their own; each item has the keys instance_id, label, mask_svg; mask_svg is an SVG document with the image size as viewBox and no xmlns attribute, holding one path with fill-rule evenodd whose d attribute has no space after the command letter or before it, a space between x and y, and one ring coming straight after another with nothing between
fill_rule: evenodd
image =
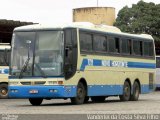
<instances>
[{"instance_id":1,"label":"sliver of a bus at right edge, behind the central bus","mask_svg":"<svg viewBox=\"0 0 160 120\"><path fill-rule=\"evenodd\" d=\"M156 56L156 89L160 89L160 56Z\"/></svg>"}]
</instances>

